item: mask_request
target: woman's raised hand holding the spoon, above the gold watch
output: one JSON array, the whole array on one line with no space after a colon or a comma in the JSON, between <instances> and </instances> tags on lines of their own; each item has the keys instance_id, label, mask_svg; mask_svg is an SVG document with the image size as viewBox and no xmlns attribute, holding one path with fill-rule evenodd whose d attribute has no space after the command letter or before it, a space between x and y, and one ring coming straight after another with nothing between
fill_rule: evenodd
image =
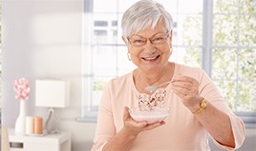
<instances>
[{"instance_id":1,"label":"woman's raised hand holding the spoon, above the gold watch","mask_svg":"<svg viewBox=\"0 0 256 151\"><path fill-rule=\"evenodd\" d=\"M178 75L172 81L173 91L178 95L182 103L190 110L195 110L199 106L202 97L199 95L199 82L194 78Z\"/></svg>"}]
</instances>

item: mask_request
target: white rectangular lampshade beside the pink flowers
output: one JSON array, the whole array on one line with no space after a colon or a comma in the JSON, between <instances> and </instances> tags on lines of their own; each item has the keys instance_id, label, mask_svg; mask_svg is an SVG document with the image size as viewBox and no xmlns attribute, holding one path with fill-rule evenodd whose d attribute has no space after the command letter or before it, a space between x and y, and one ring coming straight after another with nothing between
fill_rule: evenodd
<instances>
[{"instance_id":1,"label":"white rectangular lampshade beside the pink flowers","mask_svg":"<svg viewBox=\"0 0 256 151\"><path fill-rule=\"evenodd\" d=\"M36 80L35 105L66 107L69 105L69 82L61 80Z\"/></svg>"}]
</instances>

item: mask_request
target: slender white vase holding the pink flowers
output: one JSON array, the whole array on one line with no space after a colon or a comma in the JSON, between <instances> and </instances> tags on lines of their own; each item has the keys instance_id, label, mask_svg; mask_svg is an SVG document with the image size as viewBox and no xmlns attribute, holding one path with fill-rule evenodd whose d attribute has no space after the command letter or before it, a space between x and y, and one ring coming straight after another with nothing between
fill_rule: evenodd
<instances>
[{"instance_id":1,"label":"slender white vase holding the pink flowers","mask_svg":"<svg viewBox=\"0 0 256 151\"><path fill-rule=\"evenodd\" d=\"M15 123L15 134L25 135L26 131L27 102L20 101L19 116Z\"/></svg>"}]
</instances>

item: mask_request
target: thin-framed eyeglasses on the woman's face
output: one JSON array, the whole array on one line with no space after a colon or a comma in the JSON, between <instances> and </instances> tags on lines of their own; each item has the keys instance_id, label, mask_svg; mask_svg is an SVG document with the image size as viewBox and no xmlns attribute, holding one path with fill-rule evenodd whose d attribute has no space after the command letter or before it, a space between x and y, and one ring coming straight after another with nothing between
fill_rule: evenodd
<instances>
[{"instance_id":1,"label":"thin-framed eyeglasses on the woman's face","mask_svg":"<svg viewBox=\"0 0 256 151\"><path fill-rule=\"evenodd\" d=\"M160 32L160 33L164 33L164 32ZM158 33L158 34L160 34L160 33ZM137 35L137 36L139 36L139 35ZM164 38L162 37L164 41L163 41L162 43L159 43L159 44L155 44L155 43L154 43L154 40L155 40L156 38L160 38L160 37L156 37L156 36L153 36L153 37L150 37L150 38L144 38L144 37L139 36L139 37L141 38L140 40L143 41L143 44L142 44L142 45L133 44L133 43L131 42L131 40L130 40L130 37L126 37L126 39L127 39L127 41L129 42L129 44L132 45L132 46L134 46L134 47L143 47L143 46L145 46L145 45L147 44L147 41L148 41L148 40L149 40L149 42L151 43L151 45L154 45L154 46L163 44L164 42L166 42L166 39L167 39L169 36L170 36L170 31L167 31L167 32L165 33L165 35L164 35Z\"/></svg>"}]
</instances>

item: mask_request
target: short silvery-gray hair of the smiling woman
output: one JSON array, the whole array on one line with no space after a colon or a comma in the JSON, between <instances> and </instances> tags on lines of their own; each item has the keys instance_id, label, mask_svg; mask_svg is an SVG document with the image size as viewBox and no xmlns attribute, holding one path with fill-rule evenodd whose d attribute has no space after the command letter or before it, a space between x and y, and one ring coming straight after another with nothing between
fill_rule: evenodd
<instances>
[{"instance_id":1,"label":"short silvery-gray hair of the smiling woman","mask_svg":"<svg viewBox=\"0 0 256 151\"><path fill-rule=\"evenodd\" d=\"M156 1L140 0L124 12L121 20L122 34L129 37L144 28L155 28L160 19L167 31L170 31L173 24L171 14Z\"/></svg>"}]
</instances>

